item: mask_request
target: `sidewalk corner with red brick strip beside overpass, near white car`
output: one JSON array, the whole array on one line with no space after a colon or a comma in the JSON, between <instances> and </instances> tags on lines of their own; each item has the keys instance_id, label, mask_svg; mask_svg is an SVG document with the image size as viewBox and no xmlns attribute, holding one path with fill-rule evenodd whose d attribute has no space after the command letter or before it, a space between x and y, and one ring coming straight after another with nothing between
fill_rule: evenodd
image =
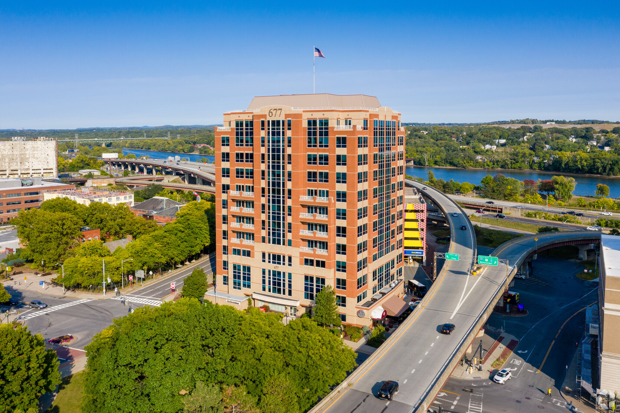
<instances>
[{"instance_id":1,"label":"sidewalk corner with red brick strip beside overpass, near white car","mask_svg":"<svg viewBox=\"0 0 620 413\"><path fill-rule=\"evenodd\" d=\"M477 344L479 344L479 341L474 339L474 342L472 342L472 351L476 350ZM487 379L492 371L502 368L502 366L492 367L495 360L502 357L502 355L502 358L508 357L518 344L519 340L517 340L514 335L508 334L507 332L500 334L497 340L494 341L492 341L490 335L485 334L482 337L482 349L487 350L482 352L482 371L478 371L474 368L472 373L469 374L467 363L463 363L463 366L456 366L453 376L464 379ZM478 355L474 355L473 353L467 353L467 358L469 360L471 360L471 357L477 358L477 356Z\"/></svg>"}]
</instances>

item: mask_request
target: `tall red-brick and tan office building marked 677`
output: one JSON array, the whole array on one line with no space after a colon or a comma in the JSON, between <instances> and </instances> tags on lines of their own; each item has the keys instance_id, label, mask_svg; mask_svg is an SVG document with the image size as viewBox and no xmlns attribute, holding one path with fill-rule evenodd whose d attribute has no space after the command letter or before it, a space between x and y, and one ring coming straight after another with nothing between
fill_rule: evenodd
<instances>
[{"instance_id":1,"label":"tall red-brick and tan office building marked 677","mask_svg":"<svg viewBox=\"0 0 620 413\"><path fill-rule=\"evenodd\" d=\"M331 285L343 321L370 325L402 279L400 121L366 95L260 96L225 112L210 300L299 317Z\"/></svg>"}]
</instances>

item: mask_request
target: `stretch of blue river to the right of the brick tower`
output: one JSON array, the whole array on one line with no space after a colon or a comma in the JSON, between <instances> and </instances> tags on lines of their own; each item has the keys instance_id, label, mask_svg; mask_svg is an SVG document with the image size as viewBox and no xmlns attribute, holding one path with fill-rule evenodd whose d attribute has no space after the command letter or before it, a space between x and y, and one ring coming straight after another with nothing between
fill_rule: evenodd
<instances>
[{"instance_id":1,"label":"stretch of blue river to the right of the brick tower","mask_svg":"<svg viewBox=\"0 0 620 413\"><path fill-rule=\"evenodd\" d=\"M605 184L609 187L609 196L612 198L620 197L620 178L605 177L594 175L562 174L562 172L547 171L523 171L521 169L477 169L477 168L437 168L425 166L407 166L405 173L413 177L427 179L428 171L433 171L436 179L450 180L457 182L469 182L470 184L480 185L480 180L486 175L502 174L518 180L524 179L551 179L553 175L572 176L577 181L573 195L594 195L597 184Z\"/></svg>"}]
</instances>

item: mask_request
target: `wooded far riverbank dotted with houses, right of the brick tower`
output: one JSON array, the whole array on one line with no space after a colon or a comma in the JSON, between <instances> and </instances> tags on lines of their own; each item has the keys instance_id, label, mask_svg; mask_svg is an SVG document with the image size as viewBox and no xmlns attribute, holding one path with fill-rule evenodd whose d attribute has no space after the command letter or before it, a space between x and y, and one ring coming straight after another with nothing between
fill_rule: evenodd
<instances>
[{"instance_id":1,"label":"wooded far riverbank dotted with houses, right of the brick tower","mask_svg":"<svg viewBox=\"0 0 620 413\"><path fill-rule=\"evenodd\" d=\"M420 166L620 174L620 127L407 127L406 157ZM600 146L600 147L599 147ZM604 148L608 148L605 150Z\"/></svg>"}]
</instances>

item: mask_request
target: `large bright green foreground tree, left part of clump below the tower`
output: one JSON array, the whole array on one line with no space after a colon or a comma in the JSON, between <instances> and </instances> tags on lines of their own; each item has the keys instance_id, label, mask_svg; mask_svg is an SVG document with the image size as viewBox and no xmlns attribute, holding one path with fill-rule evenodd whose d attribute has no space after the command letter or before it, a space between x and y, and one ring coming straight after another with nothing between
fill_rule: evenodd
<instances>
[{"instance_id":1,"label":"large bright green foreground tree, left part of clump below the tower","mask_svg":"<svg viewBox=\"0 0 620 413\"><path fill-rule=\"evenodd\" d=\"M241 370L229 344L240 318L230 306L182 298L115 320L86 347L83 411L177 413L197 381L234 384Z\"/></svg>"}]
</instances>

